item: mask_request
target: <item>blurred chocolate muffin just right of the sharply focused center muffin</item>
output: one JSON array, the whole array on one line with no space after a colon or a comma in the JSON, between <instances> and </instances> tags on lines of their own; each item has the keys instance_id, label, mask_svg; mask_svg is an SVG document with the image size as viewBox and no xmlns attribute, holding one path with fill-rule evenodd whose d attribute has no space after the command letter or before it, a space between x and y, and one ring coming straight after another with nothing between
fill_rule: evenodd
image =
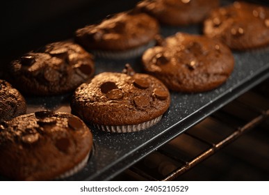
<instances>
[{"instance_id":1,"label":"blurred chocolate muffin just right of the sharply focused center muffin","mask_svg":"<svg viewBox=\"0 0 269 195\"><path fill-rule=\"evenodd\" d=\"M223 84L234 69L229 47L205 36L177 33L142 55L150 75L172 91L197 93Z\"/></svg>"}]
</instances>

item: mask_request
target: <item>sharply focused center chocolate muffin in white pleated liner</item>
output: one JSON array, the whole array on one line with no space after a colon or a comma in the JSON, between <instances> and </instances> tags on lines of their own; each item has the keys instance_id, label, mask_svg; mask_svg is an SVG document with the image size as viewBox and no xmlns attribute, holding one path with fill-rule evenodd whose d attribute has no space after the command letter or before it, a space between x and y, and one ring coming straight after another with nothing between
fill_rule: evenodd
<instances>
[{"instance_id":1,"label":"sharply focused center chocolate muffin in white pleated liner","mask_svg":"<svg viewBox=\"0 0 269 195\"><path fill-rule=\"evenodd\" d=\"M170 106L168 89L129 66L124 72L103 72L81 84L72 98L72 113L106 132L136 132L158 123Z\"/></svg>"}]
</instances>

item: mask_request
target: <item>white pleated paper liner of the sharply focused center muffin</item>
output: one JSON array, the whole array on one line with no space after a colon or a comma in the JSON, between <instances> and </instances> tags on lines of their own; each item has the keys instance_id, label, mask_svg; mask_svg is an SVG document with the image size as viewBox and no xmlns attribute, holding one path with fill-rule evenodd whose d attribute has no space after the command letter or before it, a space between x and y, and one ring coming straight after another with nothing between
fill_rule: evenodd
<instances>
[{"instance_id":1,"label":"white pleated paper liner of the sharply focused center muffin","mask_svg":"<svg viewBox=\"0 0 269 195\"><path fill-rule=\"evenodd\" d=\"M149 120L144 123L136 124L136 125L117 125L117 126L111 126L111 125L97 125L92 124L95 128L102 130L104 132L111 132L111 133L130 133L130 132L138 132L140 130L145 130L149 127L152 127L156 123L158 123L163 115L158 116L157 118L154 118L152 120Z\"/></svg>"}]
</instances>

